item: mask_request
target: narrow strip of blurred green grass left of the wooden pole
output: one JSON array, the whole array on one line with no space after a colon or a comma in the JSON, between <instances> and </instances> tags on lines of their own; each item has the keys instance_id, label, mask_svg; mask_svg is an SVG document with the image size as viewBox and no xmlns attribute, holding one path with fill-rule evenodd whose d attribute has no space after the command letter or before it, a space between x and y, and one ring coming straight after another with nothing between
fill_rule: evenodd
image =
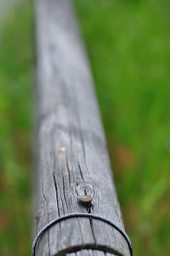
<instances>
[{"instance_id":1,"label":"narrow strip of blurred green grass left of the wooden pole","mask_svg":"<svg viewBox=\"0 0 170 256\"><path fill-rule=\"evenodd\" d=\"M30 255L31 6L8 16L0 43L0 254Z\"/></svg>"}]
</instances>

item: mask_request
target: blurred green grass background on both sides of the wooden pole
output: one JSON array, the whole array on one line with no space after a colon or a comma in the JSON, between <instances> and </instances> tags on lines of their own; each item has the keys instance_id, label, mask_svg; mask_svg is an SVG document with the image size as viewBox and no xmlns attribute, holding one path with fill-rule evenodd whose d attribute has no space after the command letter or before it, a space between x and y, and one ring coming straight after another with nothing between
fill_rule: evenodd
<instances>
[{"instance_id":1,"label":"blurred green grass background on both sides of the wooden pole","mask_svg":"<svg viewBox=\"0 0 170 256\"><path fill-rule=\"evenodd\" d=\"M75 0L134 255L170 255L170 2ZM30 255L33 11L0 31L0 255Z\"/></svg>"}]
</instances>

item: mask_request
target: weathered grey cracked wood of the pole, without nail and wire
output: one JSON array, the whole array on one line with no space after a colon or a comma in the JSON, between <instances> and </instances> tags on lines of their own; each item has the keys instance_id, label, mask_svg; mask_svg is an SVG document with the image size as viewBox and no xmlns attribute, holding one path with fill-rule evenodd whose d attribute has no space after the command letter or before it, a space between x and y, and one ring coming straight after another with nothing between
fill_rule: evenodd
<instances>
[{"instance_id":1,"label":"weathered grey cracked wood of the pole, without nail and wire","mask_svg":"<svg viewBox=\"0 0 170 256\"><path fill-rule=\"evenodd\" d=\"M37 231L65 213L87 211L123 227L93 80L70 1L37 0L36 26ZM78 203L86 194L93 196L90 209ZM112 254L100 252L110 247ZM67 219L42 236L37 255L56 253L130 255L118 231L83 218Z\"/></svg>"}]
</instances>

